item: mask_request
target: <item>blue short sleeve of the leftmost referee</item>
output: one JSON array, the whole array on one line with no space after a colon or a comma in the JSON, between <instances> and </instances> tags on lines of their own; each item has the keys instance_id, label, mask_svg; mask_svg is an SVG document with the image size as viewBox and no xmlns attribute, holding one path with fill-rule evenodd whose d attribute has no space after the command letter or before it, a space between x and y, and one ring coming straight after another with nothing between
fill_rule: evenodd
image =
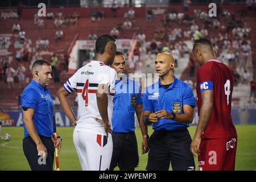
<instances>
[{"instance_id":1,"label":"blue short sleeve of the leftmost referee","mask_svg":"<svg viewBox=\"0 0 256 182\"><path fill-rule=\"evenodd\" d=\"M21 98L21 106L36 109L38 102L38 93L34 89L24 90Z\"/></svg>"}]
</instances>

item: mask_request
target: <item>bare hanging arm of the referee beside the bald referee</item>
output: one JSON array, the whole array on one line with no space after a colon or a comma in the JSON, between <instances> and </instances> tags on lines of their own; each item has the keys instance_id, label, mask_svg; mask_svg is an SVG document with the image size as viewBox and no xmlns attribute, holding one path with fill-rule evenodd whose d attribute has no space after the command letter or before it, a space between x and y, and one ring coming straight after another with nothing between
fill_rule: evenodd
<instances>
[{"instance_id":1,"label":"bare hanging arm of the referee beside the bald referee","mask_svg":"<svg viewBox=\"0 0 256 182\"><path fill-rule=\"evenodd\" d=\"M135 107L135 112L139 121L139 127L141 128L142 133L142 154L146 154L148 152L148 144L147 144L147 125L144 124L142 120L142 104L139 104Z\"/></svg>"}]
</instances>

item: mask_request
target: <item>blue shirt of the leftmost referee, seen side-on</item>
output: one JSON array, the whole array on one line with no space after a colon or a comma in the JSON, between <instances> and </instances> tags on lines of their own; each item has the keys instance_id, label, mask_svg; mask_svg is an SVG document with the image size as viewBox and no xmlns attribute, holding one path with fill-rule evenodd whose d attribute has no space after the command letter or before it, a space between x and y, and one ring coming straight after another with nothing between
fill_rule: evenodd
<instances>
[{"instance_id":1,"label":"blue shirt of the leftmost referee, seen side-on","mask_svg":"<svg viewBox=\"0 0 256 182\"><path fill-rule=\"evenodd\" d=\"M53 101L47 88L32 80L23 90L21 106L35 110L33 122L38 135L52 137L53 135ZM23 115L22 115L23 120ZM28 131L23 121L24 137L28 137Z\"/></svg>"}]
</instances>

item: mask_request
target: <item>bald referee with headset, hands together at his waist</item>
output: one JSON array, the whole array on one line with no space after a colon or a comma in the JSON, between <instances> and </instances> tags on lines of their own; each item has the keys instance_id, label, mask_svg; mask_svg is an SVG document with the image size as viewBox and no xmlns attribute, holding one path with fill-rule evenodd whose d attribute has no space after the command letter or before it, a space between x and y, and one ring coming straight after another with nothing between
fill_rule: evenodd
<instances>
[{"instance_id":1,"label":"bald referee with headset, hands together at his waist","mask_svg":"<svg viewBox=\"0 0 256 182\"><path fill-rule=\"evenodd\" d=\"M159 53L155 70L159 81L148 87L143 96L143 122L153 123L148 140L147 170L195 170L187 127L193 121L195 97L190 86L174 76L174 56ZM154 90L151 93L150 90Z\"/></svg>"}]
</instances>

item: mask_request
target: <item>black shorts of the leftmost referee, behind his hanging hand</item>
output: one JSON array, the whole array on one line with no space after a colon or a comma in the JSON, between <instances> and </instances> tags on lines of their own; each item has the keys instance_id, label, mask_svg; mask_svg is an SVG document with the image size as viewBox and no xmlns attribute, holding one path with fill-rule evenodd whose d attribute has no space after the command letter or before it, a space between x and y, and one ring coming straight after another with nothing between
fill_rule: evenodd
<instances>
[{"instance_id":1,"label":"black shorts of the leftmost referee, behind his hanging hand","mask_svg":"<svg viewBox=\"0 0 256 182\"><path fill-rule=\"evenodd\" d=\"M47 148L48 157L46 164L39 164L38 150L36 144L31 137L25 137L23 139L23 152L27 158L28 164L32 171L52 171L53 160L54 160L54 146L51 138L39 136L44 146ZM42 162L42 160L41 160Z\"/></svg>"}]
</instances>

